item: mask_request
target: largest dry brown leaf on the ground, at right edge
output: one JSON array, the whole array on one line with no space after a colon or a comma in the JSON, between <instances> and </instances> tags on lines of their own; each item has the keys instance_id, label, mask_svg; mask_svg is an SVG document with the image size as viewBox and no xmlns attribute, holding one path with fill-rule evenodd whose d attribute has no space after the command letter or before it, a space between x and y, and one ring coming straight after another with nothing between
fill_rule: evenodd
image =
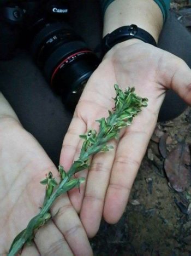
<instances>
[{"instance_id":1,"label":"largest dry brown leaf on the ground, at right edge","mask_svg":"<svg viewBox=\"0 0 191 256\"><path fill-rule=\"evenodd\" d=\"M190 150L185 143L179 143L169 153L164 162L170 185L182 192L190 185Z\"/></svg>"}]
</instances>

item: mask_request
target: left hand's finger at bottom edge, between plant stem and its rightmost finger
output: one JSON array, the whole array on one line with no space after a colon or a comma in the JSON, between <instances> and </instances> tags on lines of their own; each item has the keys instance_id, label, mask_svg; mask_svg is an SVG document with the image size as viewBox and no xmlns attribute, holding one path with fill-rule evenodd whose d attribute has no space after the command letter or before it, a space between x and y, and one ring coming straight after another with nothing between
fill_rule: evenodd
<instances>
[{"instance_id":1,"label":"left hand's finger at bottom edge, between plant stem and its rightmost finger","mask_svg":"<svg viewBox=\"0 0 191 256\"><path fill-rule=\"evenodd\" d=\"M34 242L40 255L73 255L64 236L51 220L40 227Z\"/></svg>"}]
</instances>

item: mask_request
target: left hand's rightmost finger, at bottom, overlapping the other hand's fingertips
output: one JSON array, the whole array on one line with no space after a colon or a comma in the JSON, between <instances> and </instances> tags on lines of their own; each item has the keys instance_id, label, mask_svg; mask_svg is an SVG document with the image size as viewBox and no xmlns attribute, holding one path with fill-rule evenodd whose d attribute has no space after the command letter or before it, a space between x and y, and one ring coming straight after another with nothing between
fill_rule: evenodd
<instances>
[{"instance_id":1,"label":"left hand's rightmost finger, at bottom, overlapping the other hand's fingertips","mask_svg":"<svg viewBox=\"0 0 191 256\"><path fill-rule=\"evenodd\" d=\"M86 232L67 195L57 198L51 213L55 225L64 235L74 255L92 255Z\"/></svg>"}]
</instances>

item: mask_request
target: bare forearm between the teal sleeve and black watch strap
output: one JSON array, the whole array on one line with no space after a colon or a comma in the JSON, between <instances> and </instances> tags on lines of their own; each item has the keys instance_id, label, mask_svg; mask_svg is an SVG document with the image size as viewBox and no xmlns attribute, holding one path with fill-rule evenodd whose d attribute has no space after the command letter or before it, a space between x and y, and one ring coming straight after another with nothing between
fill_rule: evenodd
<instances>
[{"instance_id":1,"label":"bare forearm between the teal sleeve and black watch strap","mask_svg":"<svg viewBox=\"0 0 191 256\"><path fill-rule=\"evenodd\" d=\"M104 15L103 36L121 26L135 24L158 42L163 26L162 12L153 0L115 0Z\"/></svg>"}]
</instances>

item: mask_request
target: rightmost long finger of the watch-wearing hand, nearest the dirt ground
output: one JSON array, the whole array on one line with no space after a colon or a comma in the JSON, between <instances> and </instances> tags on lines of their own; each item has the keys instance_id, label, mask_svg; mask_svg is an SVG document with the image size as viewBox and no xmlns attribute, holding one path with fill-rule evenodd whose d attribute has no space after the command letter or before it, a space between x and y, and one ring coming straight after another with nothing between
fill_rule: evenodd
<instances>
[{"instance_id":1,"label":"rightmost long finger of the watch-wearing hand, nearest the dirt ground","mask_svg":"<svg viewBox=\"0 0 191 256\"><path fill-rule=\"evenodd\" d=\"M104 205L103 215L108 223L116 223L124 212L156 122L156 114L144 109L118 144Z\"/></svg>"}]
</instances>

